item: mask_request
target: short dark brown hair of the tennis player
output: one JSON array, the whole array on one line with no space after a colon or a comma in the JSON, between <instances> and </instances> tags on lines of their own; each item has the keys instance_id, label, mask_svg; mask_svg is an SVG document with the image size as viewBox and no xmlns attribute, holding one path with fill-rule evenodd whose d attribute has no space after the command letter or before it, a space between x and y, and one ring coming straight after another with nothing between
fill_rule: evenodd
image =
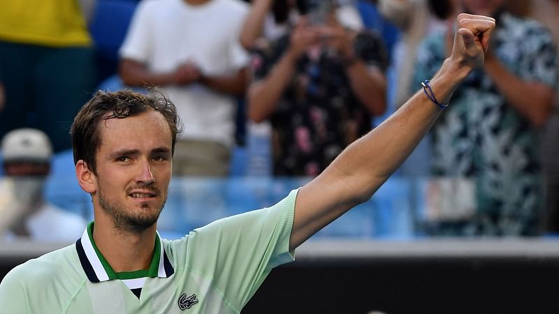
<instances>
[{"instance_id":1,"label":"short dark brown hair of the tennis player","mask_svg":"<svg viewBox=\"0 0 559 314\"><path fill-rule=\"evenodd\" d=\"M139 94L129 89L115 92L97 91L80 109L71 126L74 164L84 160L96 174L95 154L101 145L99 122L108 119L124 119L147 110L163 115L173 137L172 154L175 153L177 135L182 125L175 105L158 89L151 89L150 95Z\"/></svg>"}]
</instances>

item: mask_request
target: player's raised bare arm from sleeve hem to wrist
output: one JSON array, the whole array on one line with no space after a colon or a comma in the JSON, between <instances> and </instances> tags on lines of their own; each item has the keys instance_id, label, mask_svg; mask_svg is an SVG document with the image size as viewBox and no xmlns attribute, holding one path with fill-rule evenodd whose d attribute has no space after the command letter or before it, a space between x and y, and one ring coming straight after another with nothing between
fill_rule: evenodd
<instances>
[{"instance_id":1,"label":"player's raised bare arm from sleeve hem to wrist","mask_svg":"<svg viewBox=\"0 0 559 314\"><path fill-rule=\"evenodd\" d=\"M469 70L445 61L430 83L437 100L448 102L467 73ZM296 248L309 234L351 207L369 200L411 154L441 111L423 91L418 91L389 119L349 145L319 177L301 188L296 204L301 210L296 210L294 223L297 232L292 232L290 248Z\"/></svg>"}]
</instances>

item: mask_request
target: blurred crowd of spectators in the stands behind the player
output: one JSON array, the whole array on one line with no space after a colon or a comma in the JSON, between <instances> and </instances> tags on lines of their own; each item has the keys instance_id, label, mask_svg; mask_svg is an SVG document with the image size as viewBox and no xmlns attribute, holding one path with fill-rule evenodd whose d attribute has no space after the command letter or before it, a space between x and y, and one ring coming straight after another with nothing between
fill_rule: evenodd
<instances>
[{"instance_id":1,"label":"blurred crowd of spectators in the stands behind the player","mask_svg":"<svg viewBox=\"0 0 559 314\"><path fill-rule=\"evenodd\" d=\"M313 239L559 231L559 1L0 6L1 239L69 242L92 220L68 130L99 89L157 86L177 105L184 133L158 229L181 237L277 202L389 119L447 57L463 12L497 19L486 65L375 196Z\"/></svg>"}]
</instances>

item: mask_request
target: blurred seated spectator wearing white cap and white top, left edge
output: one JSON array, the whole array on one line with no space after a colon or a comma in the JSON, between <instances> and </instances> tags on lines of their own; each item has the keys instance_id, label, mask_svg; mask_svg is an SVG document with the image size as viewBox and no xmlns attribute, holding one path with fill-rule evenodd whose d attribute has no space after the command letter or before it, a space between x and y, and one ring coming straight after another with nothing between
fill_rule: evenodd
<instances>
[{"instance_id":1,"label":"blurred seated spectator wearing white cap and white top, left edge","mask_svg":"<svg viewBox=\"0 0 559 314\"><path fill-rule=\"evenodd\" d=\"M1 154L6 177L0 183L0 237L78 239L85 220L43 197L52 157L47 135L32 128L13 130L3 138Z\"/></svg>"}]
</instances>

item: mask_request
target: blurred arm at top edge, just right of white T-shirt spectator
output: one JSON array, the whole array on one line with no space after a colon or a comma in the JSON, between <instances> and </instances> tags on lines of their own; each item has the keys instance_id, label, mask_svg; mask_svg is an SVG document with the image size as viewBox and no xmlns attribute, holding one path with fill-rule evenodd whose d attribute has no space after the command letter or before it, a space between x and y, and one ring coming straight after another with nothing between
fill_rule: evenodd
<instances>
[{"instance_id":1,"label":"blurred arm at top edge, just right of white T-shirt spectator","mask_svg":"<svg viewBox=\"0 0 559 314\"><path fill-rule=\"evenodd\" d=\"M274 0L254 0L245 24L242 25L239 40L242 47L250 49L256 39L262 35L266 15L270 12Z\"/></svg>"}]
</instances>

